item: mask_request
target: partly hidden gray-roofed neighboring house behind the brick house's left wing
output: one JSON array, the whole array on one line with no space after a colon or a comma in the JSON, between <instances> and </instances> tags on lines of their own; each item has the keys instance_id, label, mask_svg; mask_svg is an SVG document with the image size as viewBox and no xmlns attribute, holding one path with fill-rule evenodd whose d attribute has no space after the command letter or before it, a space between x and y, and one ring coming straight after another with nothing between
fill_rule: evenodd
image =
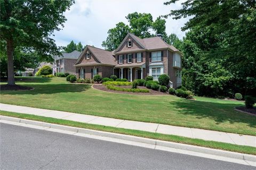
<instances>
[{"instance_id":1,"label":"partly hidden gray-roofed neighboring house behind the brick house's left wing","mask_svg":"<svg viewBox=\"0 0 256 170\"><path fill-rule=\"evenodd\" d=\"M76 74L74 64L81 52L73 51L71 53L62 53L62 56L54 56L53 75L57 72L68 72L69 74Z\"/></svg>"}]
</instances>

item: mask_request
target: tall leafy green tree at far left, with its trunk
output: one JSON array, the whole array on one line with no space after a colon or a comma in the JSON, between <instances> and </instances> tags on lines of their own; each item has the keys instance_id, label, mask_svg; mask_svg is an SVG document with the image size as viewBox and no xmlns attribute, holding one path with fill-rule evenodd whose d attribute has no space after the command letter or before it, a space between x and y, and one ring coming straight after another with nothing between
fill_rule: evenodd
<instances>
[{"instance_id":1,"label":"tall leafy green tree at far left, with its trunk","mask_svg":"<svg viewBox=\"0 0 256 170\"><path fill-rule=\"evenodd\" d=\"M8 84L14 85L13 52L15 47L30 47L45 60L60 54L50 38L54 30L60 30L66 21L63 15L74 3L63 1L1 0L1 41L6 42L8 62Z\"/></svg>"}]
</instances>

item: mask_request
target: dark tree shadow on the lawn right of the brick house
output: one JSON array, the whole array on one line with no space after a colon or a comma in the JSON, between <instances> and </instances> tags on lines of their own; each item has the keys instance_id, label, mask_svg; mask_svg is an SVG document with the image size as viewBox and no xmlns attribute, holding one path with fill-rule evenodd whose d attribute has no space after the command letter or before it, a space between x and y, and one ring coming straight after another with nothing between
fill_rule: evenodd
<instances>
[{"instance_id":1,"label":"dark tree shadow on the lawn right of the brick house","mask_svg":"<svg viewBox=\"0 0 256 170\"><path fill-rule=\"evenodd\" d=\"M245 123L250 127L256 127L256 116L234 110L235 107L242 106L242 103L214 103L183 99L170 104L173 110L177 110L179 114L194 115L197 119L212 119L216 124L223 122L229 122L230 124Z\"/></svg>"}]
</instances>

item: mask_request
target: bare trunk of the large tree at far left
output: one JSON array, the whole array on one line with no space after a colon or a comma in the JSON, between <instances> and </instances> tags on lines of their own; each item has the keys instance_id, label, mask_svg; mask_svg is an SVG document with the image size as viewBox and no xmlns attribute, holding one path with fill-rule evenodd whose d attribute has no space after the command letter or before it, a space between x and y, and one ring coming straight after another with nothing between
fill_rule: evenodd
<instances>
[{"instance_id":1,"label":"bare trunk of the large tree at far left","mask_svg":"<svg viewBox=\"0 0 256 170\"><path fill-rule=\"evenodd\" d=\"M8 39L7 43L7 68L8 68L8 85L15 85L14 82L14 71L13 71L13 40Z\"/></svg>"}]
</instances>

